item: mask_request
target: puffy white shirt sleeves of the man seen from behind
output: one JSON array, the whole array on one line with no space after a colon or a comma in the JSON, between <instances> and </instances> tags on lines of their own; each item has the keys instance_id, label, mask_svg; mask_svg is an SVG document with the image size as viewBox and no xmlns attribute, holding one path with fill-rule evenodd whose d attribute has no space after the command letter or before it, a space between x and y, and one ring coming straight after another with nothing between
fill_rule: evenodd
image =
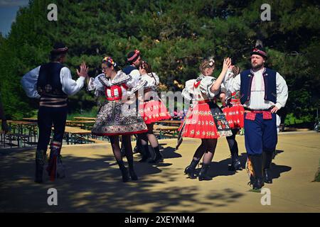
<instances>
[{"instance_id":1,"label":"puffy white shirt sleeves of the man seen from behind","mask_svg":"<svg viewBox=\"0 0 320 227\"><path fill-rule=\"evenodd\" d=\"M26 95L30 98L40 99L40 94L37 92L37 82L40 67L38 66L25 74L21 79L21 85L26 92ZM71 72L67 67L63 67L60 71L60 82L62 84L62 90L67 95L73 95L82 89L85 81L85 77L79 77L76 81L72 79Z\"/></svg>"}]
</instances>

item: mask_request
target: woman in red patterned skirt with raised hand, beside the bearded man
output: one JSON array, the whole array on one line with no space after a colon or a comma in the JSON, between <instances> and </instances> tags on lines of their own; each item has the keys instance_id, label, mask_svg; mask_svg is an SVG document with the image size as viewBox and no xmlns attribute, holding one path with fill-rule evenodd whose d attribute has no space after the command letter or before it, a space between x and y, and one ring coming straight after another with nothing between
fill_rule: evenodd
<instances>
[{"instance_id":1,"label":"woman in red patterned skirt with raised hand, beside the bearded man","mask_svg":"<svg viewBox=\"0 0 320 227\"><path fill-rule=\"evenodd\" d=\"M201 157L203 157L203 165L198 179L211 179L208 176L208 169L215 153L218 138L232 135L228 121L226 121L223 112L216 104L216 97L220 93L220 85L230 65L230 58L225 59L223 70L218 79L215 79L211 77L215 62L213 60L204 60L200 66L201 74L196 79L188 80L183 89L183 97L191 100L192 105L179 131L181 131L181 136L183 137L201 139L201 145L194 153L191 164L185 170L185 173L191 179L196 178L196 165L198 165Z\"/></svg>"}]
</instances>

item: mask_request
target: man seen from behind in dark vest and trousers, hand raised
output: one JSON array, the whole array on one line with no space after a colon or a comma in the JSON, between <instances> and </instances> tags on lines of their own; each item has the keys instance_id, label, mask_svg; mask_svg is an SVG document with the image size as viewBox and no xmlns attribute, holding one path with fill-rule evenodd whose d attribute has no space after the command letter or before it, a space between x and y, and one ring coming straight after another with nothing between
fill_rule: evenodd
<instances>
[{"instance_id":1,"label":"man seen from behind in dark vest and trousers, hand raised","mask_svg":"<svg viewBox=\"0 0 320 227\"><path fill-rule=\"evenodd\" d=\"M65 177L60 150L67 120L68 95L76 94L82 89L88 71L85 63L82 63L80 72L77 70L79 78L74 81L68 67L63 65L67 52L68 47L63 43L56 43L50 52L50 62L36 67L21 79L27 96L40 99L38 109L39 138L36 150L35 182L37 183L43 182L43 167L52 126L54 134L50 144L48 175L51 181L56 177Z\"/></svg>"}]
</instances>

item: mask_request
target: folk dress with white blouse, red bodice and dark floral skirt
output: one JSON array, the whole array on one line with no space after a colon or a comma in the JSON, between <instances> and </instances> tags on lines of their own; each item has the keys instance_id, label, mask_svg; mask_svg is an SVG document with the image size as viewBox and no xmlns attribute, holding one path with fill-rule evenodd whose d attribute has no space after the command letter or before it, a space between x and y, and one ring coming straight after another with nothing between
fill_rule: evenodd
<instances>
[{"instance_id":1,"label":"folk dress with white blouse, red bodice and dark floral skirt","mask_svg":"<svg viewBox=\"0 0 320 227\"><path fill-rule=\"evenodd\" d=\"M101 106L92 133L95 135L128 135L145 133L146 124L136 108L127 104L124 97L131 96L129 89L139 88L136 80L122 71L118 71L113 78L107 78L105 74L90 78L88 90L95 90L95 94L105 95L107 103Z\"/></svg>"}]
</instances>

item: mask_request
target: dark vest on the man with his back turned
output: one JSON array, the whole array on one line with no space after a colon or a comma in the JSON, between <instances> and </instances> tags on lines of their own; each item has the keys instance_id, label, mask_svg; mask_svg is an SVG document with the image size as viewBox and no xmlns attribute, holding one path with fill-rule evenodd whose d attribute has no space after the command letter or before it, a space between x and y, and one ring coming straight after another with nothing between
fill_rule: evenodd
<instances>
[{"instance_id":1,"label":"dark vest on the man with his back turned","mask_svg":"<svg viewBox=\"0 0 320 227\"><path fill-rule=\"evenodd\" d=\"M62 90L60 82L60 71L63 67L64 65L58 62L49 62L41 65L37 82L37 91L41 97L67 97L67 94Z\"/></svg>"}]
</instances>

